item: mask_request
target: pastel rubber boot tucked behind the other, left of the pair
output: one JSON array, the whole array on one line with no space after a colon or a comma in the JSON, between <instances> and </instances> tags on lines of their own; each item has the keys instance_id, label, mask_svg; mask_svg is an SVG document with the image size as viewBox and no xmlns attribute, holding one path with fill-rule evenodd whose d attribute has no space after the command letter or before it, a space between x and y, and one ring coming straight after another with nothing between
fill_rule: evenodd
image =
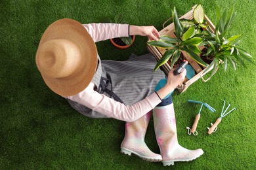
<instances>
[{"instance_id":1,"label":"pastel rubber boot tucked behind the other, left of the pair","mask_svg":"<svg viewBox=\"0 0 256 170\"><path fill-rule=\"evenodd\" d=\"M161 155L152 152L144 141L148 122L150 121L152 112L148 112L134 122L126 122L125 138L121 143L121 153L135 154L146 161L161 161Z\"/></svg>"}]
</instances>

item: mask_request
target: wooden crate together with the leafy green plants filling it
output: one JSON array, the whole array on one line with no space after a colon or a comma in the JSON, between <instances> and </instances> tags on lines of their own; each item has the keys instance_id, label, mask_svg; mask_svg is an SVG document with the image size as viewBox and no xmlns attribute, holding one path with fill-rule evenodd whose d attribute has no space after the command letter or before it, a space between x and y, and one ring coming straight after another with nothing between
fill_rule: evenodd
<instances>
[{"instance_id":1,"label":"wooden crate together with the leafy green plants filling it","mask_svg":"<svg viewBox=\"0 0 256 170\"><path fill-rule=\"evenodd\" d=\"M224 39L224 35L226 35L226 31L230 27L235 14L234 7L230 9L230 12L225 11L222 15L219 7L217 7L218 22L215 29L215 25L203 13L201 5L195 5L192 10L181 16L181 18L178 18L174 8L173 23L160 31L160 40L148 41L148 50L158 59L155 69L161 66L165 73L169 73L172 65L170 67L166 61L168 59L173 59L174 61L177 59L176 53L184 51L185 58L196 71L196 75L193 78L182 82L182 88L179 91L184 92L188 86L199 78L207 82L221 63L224 64L224 71L226 71L228 63L231 63L236 69L235 60L242 66L245 66L244 59L252 63L251 55L238 46L239 41L237 39L240 35ZM194 40L198 40L199 44L195 42L190 44ZM168 49L166 50L166 48ZM206 49L205 54L202 54L203 48ZM202 55L210 58L211 62L209 64L206 63L201 58ZM211 76L205 80L203 76L209 71L211 71Z\"/></svg>"}]
</instances>

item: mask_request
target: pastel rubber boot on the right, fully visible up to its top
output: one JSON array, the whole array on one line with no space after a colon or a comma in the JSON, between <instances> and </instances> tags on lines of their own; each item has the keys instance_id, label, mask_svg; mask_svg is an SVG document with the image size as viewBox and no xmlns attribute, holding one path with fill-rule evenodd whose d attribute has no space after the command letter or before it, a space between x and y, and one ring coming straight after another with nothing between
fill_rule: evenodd
<instances>
[{"instance_id":1,"label":"pastel rubber boot on the right, fully visible up to its top","mask_svg":"<svg viewBox=\"0 0 256 170\"><path fill-rule=\"evenodd\" d=\"M188 150L178 143L173 103L154 109L154 128L164 166L191 161L203 154L202 149Z\"/></svg>"}]
</instances>

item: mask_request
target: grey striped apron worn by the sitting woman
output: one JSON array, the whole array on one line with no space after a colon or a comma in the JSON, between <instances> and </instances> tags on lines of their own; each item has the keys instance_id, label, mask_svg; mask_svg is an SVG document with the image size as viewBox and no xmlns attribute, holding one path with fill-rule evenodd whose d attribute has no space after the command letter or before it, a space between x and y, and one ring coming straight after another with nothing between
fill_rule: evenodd
<instances>
[{"instance_id":1,"label":"grey striped apron worn by the sitting woman","mask_svg":"<svg viewBox=\"0 0 256 170\"><path fill-rule=\"evenodd\" d=\"M125 105L133 105L152 94L159 80L165 78L160 69L153 72L155 65L156 58L152 54L142 56L131 54L130 58L125 61L101 61L98 56L98 68L92 82L95 83L97 92L112 97ZM110 95L109 92L113 93ZM85 116L108 118L80 103L70 99L68 102L75 110Z\"/></svg>"}]
</instances>

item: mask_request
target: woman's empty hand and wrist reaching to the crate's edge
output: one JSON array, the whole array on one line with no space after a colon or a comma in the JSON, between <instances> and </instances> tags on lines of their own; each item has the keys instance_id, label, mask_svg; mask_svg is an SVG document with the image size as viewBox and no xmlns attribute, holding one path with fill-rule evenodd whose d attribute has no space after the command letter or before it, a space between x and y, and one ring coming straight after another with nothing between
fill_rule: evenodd
<instances>
[{"instance_id":1,"label":"woman's empty hand and wrist reaching to the crate's edge","mask_svg":"<svg viewBox=\"0 0 256 170\"><path fill-rule=\"evenodd\" d=\"M160 37L160 33L154 26L136 26L130 25L130 33L129 35L141 35L146 36L150 40L158 41L158 37Z\"/></svg>"}]
</instances>

